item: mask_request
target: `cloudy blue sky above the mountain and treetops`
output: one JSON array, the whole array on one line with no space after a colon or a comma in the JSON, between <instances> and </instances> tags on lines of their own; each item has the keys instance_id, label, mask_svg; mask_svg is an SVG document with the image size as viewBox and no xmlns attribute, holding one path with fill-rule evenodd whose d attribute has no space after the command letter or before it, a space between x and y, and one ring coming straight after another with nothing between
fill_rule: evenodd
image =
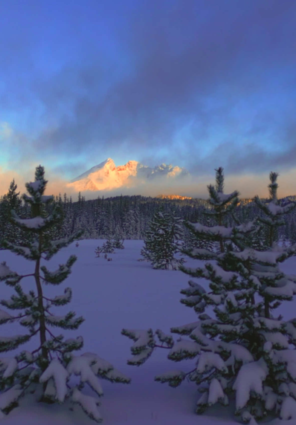
<instances>
[{"instance_id":1,"label":"cloudy blue sky above the mountain and treetops","mask_svg":"<svg viewBox=\"0 0 296 425\"><path fill-rule=\"evenodd\" d=\"M274 170L296 193L295 16L294 0L2 2L2 192L111 157L265 188Z\"/></svg>"}]
</instances>

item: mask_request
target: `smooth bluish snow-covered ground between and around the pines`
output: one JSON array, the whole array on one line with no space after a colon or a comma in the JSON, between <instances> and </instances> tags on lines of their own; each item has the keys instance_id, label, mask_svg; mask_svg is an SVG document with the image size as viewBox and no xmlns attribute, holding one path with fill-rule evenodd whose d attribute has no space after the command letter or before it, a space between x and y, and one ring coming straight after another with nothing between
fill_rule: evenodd
<instances>
[{"instance_id":1,"label":"smooth bluish snow-covered ground between and around the pines","mask_svg":"<svg viewBox=\"0 0 296 425\"><path fill-rule=\"evenodd\" d=\"M53 313L65 314L74 310L77 316L85 317L85 322L76 331L54 329L55 334L65 337L82 335L84 347L81 352L90 351L113 363L115 368L132 378L130 384L112 384L102 380L104 396L101 397L100 411L104 425L230 425L237 423L234 406L219 407L202 416L195 414L195 404L199 397L197 387L192 382L183 382L177 388L154 382L157 374L173 369L192 370L195 360L178 364L166 358L168 350L157 348L152 357L140 367L127 365L131 357L132 341L121 335L121 329L161 329L169 333L172 326L180 326L196 320L196 314L180 303L180 289L187 286L189 276L179 271L153 270L146 261L137 261L143 241L124 241L125 249L109 254L113 261L101 255L95 258L94 251L104 241L85 240L75 242L62 249L47 265L54 270L64 263L69 255L78 259L72 274L61 285L44 287L44 295L62 295L70 286L72 301L64 307L51 309ZM0 262L19 273L33 272L33 263L17 257L8 251L0 251ZM197 261L189 259L186 265L194 266ZM283 264L285 272L295 273L295 259ZM13 289L1 282L0 298L8 299ZM23 280L25 292L34 289L34 281ZM295 315L295 302L283 303L279 309L284 318ZM0 326L0 335L8 336L25 333L19 324ZM175 335L176 339L178 336ZM21 346L21 349L37 348L38 341ZM10 352L9 355L13 353ZM4 357L4 354L2 355ZM177 366L177 367L176 367ZM86 390L86 388L85 388ZM84 391L85 391L84 390ZM89 394L92 391L89 390ZM72 410L70 410L70 408ZM272 421L272 425L291 425L292 421ZM21 399L20 406L2 419L3 425L89 425L96 422L89 419L78 405L48 405L32 399Z\"/></svg>"}]
</instances>

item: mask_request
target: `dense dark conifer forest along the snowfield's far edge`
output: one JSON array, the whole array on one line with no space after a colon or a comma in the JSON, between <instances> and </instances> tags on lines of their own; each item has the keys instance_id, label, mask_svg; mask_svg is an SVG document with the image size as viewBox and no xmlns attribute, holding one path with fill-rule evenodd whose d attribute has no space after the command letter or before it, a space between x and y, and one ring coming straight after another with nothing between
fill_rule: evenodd
<instances>
[{"instance_id":1,"label":"dense dark conifer forest along the snowfield's far edge","mask_svg":"<svg viewBox=\"0 0 296 425\"><path fill-rule=\"evenodd\" d=\"M11 185L12 187L12 185ZM11 189L7 195L0 198L0 241L2 238L13 237L16 242L17 235L11 234L9 224L9 210L16 210L20 217L30 216L30 207L20 200L16 189ZM8 196L9 195L9 196ZM295 200L290 196L281 200L282 204ZM268 200L267 200L268 201ZM168 199L151 198L146 196L115 196L111 198L99 197L86 201L79 193L78 201L72 202L66 193L56 196L55 204L58 204L63 220L56 226L52 237L60 238L70 235L72 232L83 229L83 239L104 239L108 236L120 235L124 239L143 239L149 221L156 211L163 209L165 212L174 212L175 216L191 222L200 222L207 225L217 225L212 221L210 206L205 199ZM47 211L48 212L48 211ZM253 220L261 212L251 199L241 199L236 208L235 216L240 222ZM232 225L233 218L228 218L226 225ZM22 233L20 239L24 237ZM296 211L292 212L285 226L279 231L282 240L296 241Z\"/></svg>"}]
</instances>

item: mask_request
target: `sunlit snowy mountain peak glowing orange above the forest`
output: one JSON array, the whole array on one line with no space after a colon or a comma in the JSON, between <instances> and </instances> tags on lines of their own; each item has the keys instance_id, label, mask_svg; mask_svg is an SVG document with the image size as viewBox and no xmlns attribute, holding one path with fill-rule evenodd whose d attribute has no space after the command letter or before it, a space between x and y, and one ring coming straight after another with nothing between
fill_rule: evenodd
<instances>
[{"instance_id":1,"label":"sunlit snowy mountain peak glowing orange above the forest","mask_svg":"<svg viewBox=\"0 0 296 425\"><path fill-rule=\"evenodd\" d=\"M138 161L128 161L124 165L116 167L113 159L107 158L85 173L73 178L68 183L76 192L85 190L113 190L120 187L133 187L157 180L158 183L166 183L188 175L185 168L161 164L154 168L143 165Z\"/></svg>"}]
</instances>

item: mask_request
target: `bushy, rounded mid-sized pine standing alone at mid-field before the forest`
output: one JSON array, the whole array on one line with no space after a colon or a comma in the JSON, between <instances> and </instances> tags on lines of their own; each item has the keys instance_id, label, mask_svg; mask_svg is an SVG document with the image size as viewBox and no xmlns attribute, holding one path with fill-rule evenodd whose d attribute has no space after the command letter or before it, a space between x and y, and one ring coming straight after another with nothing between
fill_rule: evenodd
<instances>
[{"instance_id":1,"label":"bushy, rounded mid-sized pine standing alone at mid-field before the forest","mask_svg":"<svg viewBox=\"0 0 296 425\"><path fill-rule=\"evenodd\" d=\"M153 269L178 270L184 259L177 259L174 254L180 251L182 238L183 220L173 213L158 211L145 233L145 246L141 249L141 255L151 261Z\"/></svg>"}]
</instances>

